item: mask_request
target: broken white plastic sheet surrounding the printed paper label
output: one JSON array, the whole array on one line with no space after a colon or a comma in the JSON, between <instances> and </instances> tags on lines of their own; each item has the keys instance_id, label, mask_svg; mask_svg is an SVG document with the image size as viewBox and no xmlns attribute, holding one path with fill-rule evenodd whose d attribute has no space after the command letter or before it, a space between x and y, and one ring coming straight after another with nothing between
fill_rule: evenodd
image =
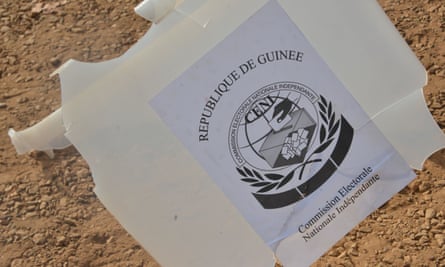
<instances>
[{"instance_id":1,"label":"broken white plastic sheet surrounding the printed paper label","mask_svg":"<svg viewBox=\"0 0 445 267\"><path fill-rule=\"evenodd\" d=\"M272 266L272 250L147 104L267 1L186 0L175 10L167 2L138 6L158 23L122 57L66 63L54 123L21 138L26 149L14 144L20 153L61 148L63 121L101 201L163 266ZM278 3L412 167L445 146L424 104L425 71L375 1ZM290 264L298 257L278 253Z\"/></svg>"}]
</instances>

